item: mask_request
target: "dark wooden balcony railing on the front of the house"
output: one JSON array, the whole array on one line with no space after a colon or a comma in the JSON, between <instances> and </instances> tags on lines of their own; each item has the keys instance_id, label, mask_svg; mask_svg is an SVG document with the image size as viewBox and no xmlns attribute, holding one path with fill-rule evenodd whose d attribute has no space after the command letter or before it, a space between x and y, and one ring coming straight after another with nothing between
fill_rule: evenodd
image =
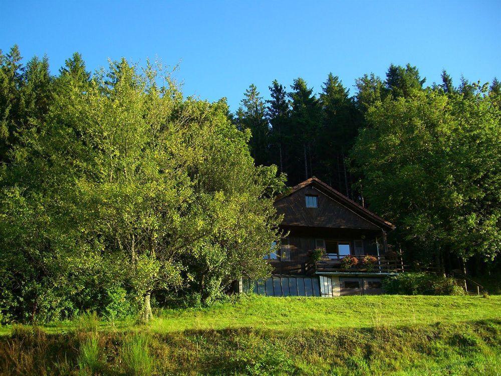
<instances>
[{"instance_id":1,"label":"dark wooden balcony railing on the front of the house","mask_svg":"<svg viewBox=\"0 0 501 376\"><path fill-rule=\"evenodd\" d=\"M354 272L354 273L401 273L404 271L404 265L400 258L386 258L384 256L372 256L373 263L364 263L364 256L350 256L358 260L357 265L345 267L342 258L327 259L323 258L315 262L316 272ZM313 266L313 265L312 265Z\"/></svg>"}]
</instances>

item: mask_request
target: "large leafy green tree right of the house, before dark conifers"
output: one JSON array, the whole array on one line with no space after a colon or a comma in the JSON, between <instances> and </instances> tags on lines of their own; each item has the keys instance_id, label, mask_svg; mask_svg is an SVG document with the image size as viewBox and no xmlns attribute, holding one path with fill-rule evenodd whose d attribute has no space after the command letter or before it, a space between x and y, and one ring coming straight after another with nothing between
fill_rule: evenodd
<instances>
[{"instance_id":1,"label":"large leafy green tree right of the house, before dark conifers","mask_svg":"<svg viewBox=\"0 0 501 376\"><path fill-rule=\"evenodd\" d=\"M499 253L500 116L490 96L432 90L369 109L352 155L371 208L396 223L415 260Z\"/></svg>"}]
</instances>

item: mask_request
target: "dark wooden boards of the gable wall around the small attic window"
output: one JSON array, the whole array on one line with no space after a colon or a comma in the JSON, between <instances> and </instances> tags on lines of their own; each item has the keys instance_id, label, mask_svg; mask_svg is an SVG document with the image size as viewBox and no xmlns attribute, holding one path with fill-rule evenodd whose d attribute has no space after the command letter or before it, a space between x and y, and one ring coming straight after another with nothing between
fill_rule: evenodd
<instances>
[{"instance_id":1,"label":"dark wooden boards of the gable wall around the small attic window","mask_svg":"<svg viewBox=\"0 0 501 376\"><path fill-rule=\"evenodd\" d=\"M307 208L305 195L318 196L318 208ZM380 229L311 185L305 186L290 196L277 201L275 207L279 214L284 215L282 225Z\"/></svg>"}]
</instances>

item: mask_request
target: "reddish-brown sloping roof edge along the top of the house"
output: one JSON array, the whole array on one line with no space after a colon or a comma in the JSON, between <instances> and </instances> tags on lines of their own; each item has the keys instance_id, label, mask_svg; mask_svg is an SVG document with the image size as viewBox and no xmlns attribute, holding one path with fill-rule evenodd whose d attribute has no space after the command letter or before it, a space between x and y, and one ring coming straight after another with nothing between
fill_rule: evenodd
<instances>
[{"instance_id":1,"label":"reddish-brown sloping roof edge along the top of the house","mask_svg":"<svg viewBox=\"0 0 501 376\"><path fill-rule=\"evenodd\" d=\"M275 198L275 201L280 201L286 197L289 197L293 193L303 189L304 187L308 185L313 185L318 189L320 192L324 193L325 195L331 197L331 199L337 201L341 205L345 206L346 208L350 209L354 213L358 214L360 217L374 223L378 227L381 227L385 230L394 230L395 225L391 224L388 221L385 221L383 218L379 217L378 215L372 213L370 210L365 209L363 206L357 204L353 200L350 200L347 198L345 195L342 193L336 191L332 186L324 183L322 180L319 178L313 176L310 177L308 180L305 180L298 185L292 187L289 191L286 193L279 195Z\"/></svg>"}]
</instances>

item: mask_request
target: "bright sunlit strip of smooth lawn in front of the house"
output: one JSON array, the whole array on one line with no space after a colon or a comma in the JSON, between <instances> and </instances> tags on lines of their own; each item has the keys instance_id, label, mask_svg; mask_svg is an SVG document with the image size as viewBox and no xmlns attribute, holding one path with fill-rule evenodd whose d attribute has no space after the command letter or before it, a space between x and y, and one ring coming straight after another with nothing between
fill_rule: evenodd
<instances>
[{"instance_id":1,"label":"bright sunlit strip of smooth lawn in front of the house","mask_svg":"<svg viewBox=\"0 0 501 376\"><path fill-rule=\"evenodd\" d=\"M335 329L408 326L501 318L501 296L344 296L339 298L253 297L207 309L164 310L156 332L185 329Z\"/></svg>"}]
</instances>

